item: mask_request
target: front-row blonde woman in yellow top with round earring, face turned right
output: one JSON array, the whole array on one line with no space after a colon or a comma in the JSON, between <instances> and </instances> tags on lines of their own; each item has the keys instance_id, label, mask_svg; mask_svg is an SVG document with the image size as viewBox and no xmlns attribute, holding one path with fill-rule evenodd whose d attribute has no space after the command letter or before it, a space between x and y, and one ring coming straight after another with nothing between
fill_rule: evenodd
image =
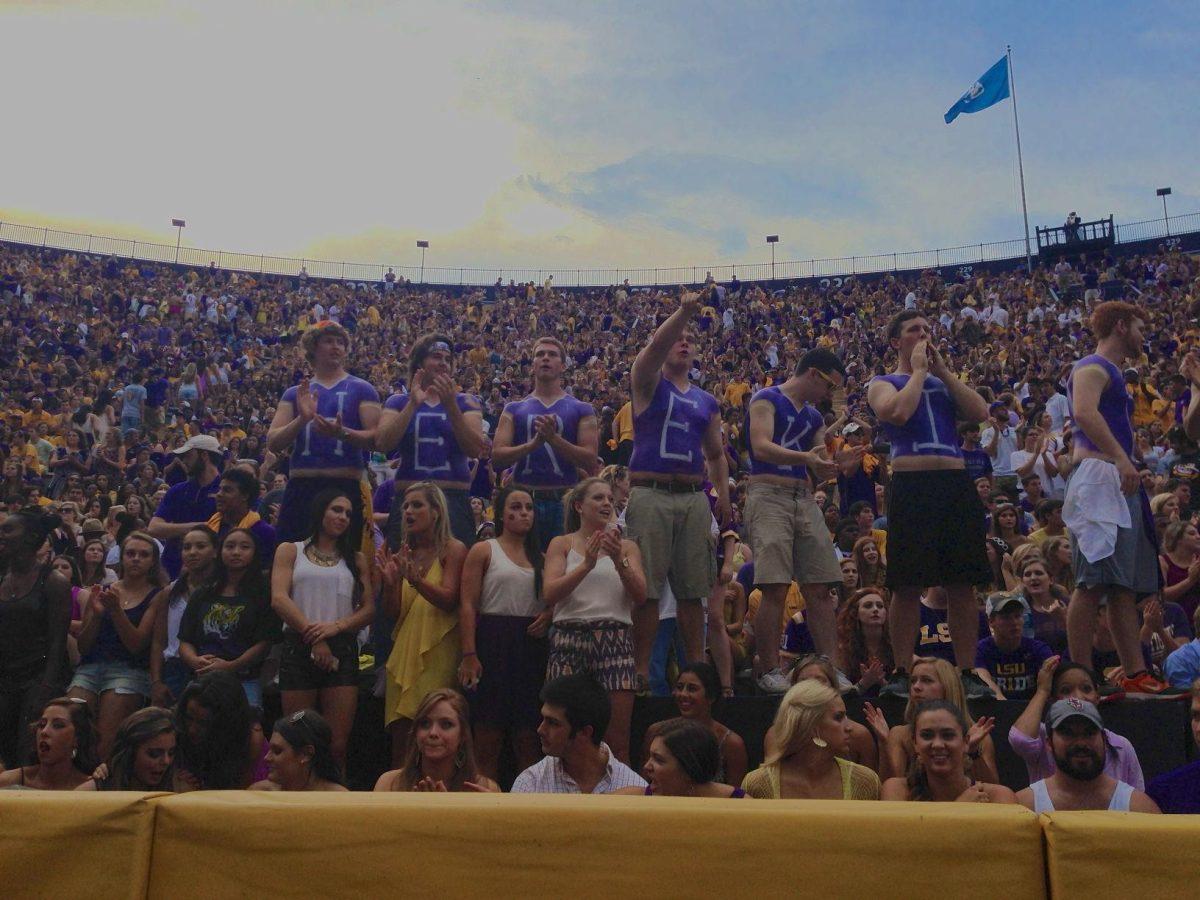
<instances>
[{"instance_id":1,"label":"front-row blonde woman in yellow top with round earring, face turned right","mask_svg":"<svg viewBox=\"0 0 1200 900\"><path fill-rule=\"evenodd\" d=\"M774 748L742 781L764 800L877 800L880 776L842 758L850 745L846 704L817 680L792 685L775 713Z\"/></svg>"}]
</instances>

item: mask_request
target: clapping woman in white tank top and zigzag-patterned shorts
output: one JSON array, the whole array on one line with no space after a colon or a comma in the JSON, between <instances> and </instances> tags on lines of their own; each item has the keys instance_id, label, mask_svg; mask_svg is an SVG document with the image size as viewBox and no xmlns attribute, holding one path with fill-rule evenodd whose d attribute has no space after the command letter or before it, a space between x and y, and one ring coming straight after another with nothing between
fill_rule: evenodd
<instances>
[{"instance_id":1,"label":"clapping woman in white tank top and zigzag-patterned shorts","mask_svg":"<svg viewBox=\"0 0 1200 900\"><path fill-rule=\"evenodd\" d=\"M634 712L632 610L646 602L642 556L616 523L612 486L581 481L564 498L566 530L546 551L546 604L553 608L546 678L586 672L608 691L612 719L605 734L613 755L629 761Z\"/></svg>"}]
</instances>

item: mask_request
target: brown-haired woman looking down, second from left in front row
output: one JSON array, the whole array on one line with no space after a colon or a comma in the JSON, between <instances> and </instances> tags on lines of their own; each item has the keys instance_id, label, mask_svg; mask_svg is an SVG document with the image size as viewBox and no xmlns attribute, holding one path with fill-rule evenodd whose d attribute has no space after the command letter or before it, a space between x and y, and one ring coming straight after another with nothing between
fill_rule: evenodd
<instances>
[{"instance_id":1,"label":"brown-haired woman looking down, second from left in front row","mask_svg":"<svg viewBox=\"0 0 1200 900\"><path fill-rule=\"evenodd\" d=\"M76 790L174 792L175 719L170 712L146 707L122 721L97 778Z\"/></svg>"}]
</instances>

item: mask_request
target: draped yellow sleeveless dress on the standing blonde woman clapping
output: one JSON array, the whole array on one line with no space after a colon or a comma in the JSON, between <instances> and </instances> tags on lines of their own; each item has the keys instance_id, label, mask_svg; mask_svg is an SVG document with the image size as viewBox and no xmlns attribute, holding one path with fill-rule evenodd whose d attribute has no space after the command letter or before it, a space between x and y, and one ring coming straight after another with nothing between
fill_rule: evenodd
<instances>
[{"instance_id":1,"label":"draped yellow sleeveless dress on the standing blonde woman clapping","mask_svg":"<svg viewBox=\"0 0 1200 900\"><path fill-rule=\"evenodd\" d=\"M442 583L442 560L434 559L426 581ZM458 613L444 612L407 581L400 587L401 619L388 656L384 724L416 715L425 695L454 688L458 674Z\"/></svg>"}]
</instances>

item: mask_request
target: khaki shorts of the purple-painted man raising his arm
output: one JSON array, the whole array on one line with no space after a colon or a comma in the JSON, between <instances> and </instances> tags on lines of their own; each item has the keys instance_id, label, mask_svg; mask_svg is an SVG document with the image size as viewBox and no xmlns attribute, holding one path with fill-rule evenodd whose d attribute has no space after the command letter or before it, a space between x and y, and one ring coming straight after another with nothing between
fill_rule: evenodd
<instances>
[{"instance_id":1,"label":"khaki shorts of the purple-painted man raising his arm","mask_svg":"<svg viewBox=\"0 0 1200 900\"><path fill-rule=\"evenodd\" d=\"M716 547L703 492L636 485L629 492L625 532L642 551L647 596L658 600L667 581L679 600L708 596L716 583Z\"/></svg>"}]
</instances>

